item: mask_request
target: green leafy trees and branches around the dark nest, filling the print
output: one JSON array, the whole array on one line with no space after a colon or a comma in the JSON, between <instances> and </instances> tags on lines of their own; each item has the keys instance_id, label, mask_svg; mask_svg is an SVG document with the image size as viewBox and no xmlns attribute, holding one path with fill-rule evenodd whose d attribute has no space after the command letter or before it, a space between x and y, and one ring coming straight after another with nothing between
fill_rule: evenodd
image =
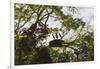
<instances>
[{"instance_id":1,"label":"green leafy trees and branches around the dark nest, filling the print","mask_svg":"<svg viewBox=\"0 0 100 69\"><path fill-rule=\"evenodd\" d=\"M81 35L80 31L75 40L63 40L71 29L77 30L80 26L84 29L85 22L82 19L65 15L60 6L17 3L14 6L15 65L94 60L93 32ZM70 11L74 12L74 9L69 7ZM49 28L49 17L59 21L62 28ZM34 21L31 23L31 20ZM28 23L30 27L25 29ZM43 41L50 34L53 40L46 45Z\"/></svg>"}]
</instances>

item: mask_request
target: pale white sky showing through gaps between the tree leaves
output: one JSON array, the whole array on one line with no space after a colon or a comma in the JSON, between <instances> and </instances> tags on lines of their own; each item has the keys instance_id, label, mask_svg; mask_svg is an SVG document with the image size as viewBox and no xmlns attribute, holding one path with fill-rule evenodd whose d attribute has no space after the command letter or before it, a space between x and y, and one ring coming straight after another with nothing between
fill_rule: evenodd
<instances>
[{"instance_id":1,"label":"pale white sky showing through gaps between the tree leaves","mask_svg":"<svg viewBox=\"0 0 100 69\"><path fill-rule=\"evenodd\" d=\"M82 8L77 7L77 9L78 9L78 12L74 14L74 17L82 18L82 20L86 22L86 25L89 26L90 29L93 29L94 9L90 7L89 8L88 7L82 7ZM62 11L64 12L65 15L68 14L68 11L66 10L66 8L63 8ZM59 21L54 21L53 18L49 18L47 24L49 28L61 28L61 24L59 23ZM66 35L65 39L72 37L73 33L74 31L70 30L70 32ZM53 39L52 37L48 37L46 40L46 43L48 43L52 39Z\"/></svg>"}]
</instances>

